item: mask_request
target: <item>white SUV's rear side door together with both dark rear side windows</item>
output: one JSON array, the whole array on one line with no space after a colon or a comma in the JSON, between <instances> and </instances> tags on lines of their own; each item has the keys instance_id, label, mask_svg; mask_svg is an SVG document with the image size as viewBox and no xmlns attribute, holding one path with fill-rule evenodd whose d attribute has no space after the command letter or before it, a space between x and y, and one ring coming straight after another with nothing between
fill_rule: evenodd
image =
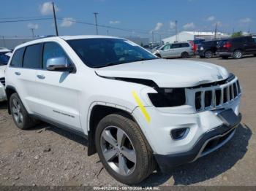
<instances>
[{"instance_id":1,"label":"white SUV's rear side door together with both dark rear side windows","mask_svg":"<svg viewBox=\"0 0 256 191\"><path fill-rule=\"evenodd\" d=\"M42 44L33 44L15 51L10 63L10 75L21 101L30 114L39 112L35 82L41 68Z\"/></svg>"}]
</instances>

